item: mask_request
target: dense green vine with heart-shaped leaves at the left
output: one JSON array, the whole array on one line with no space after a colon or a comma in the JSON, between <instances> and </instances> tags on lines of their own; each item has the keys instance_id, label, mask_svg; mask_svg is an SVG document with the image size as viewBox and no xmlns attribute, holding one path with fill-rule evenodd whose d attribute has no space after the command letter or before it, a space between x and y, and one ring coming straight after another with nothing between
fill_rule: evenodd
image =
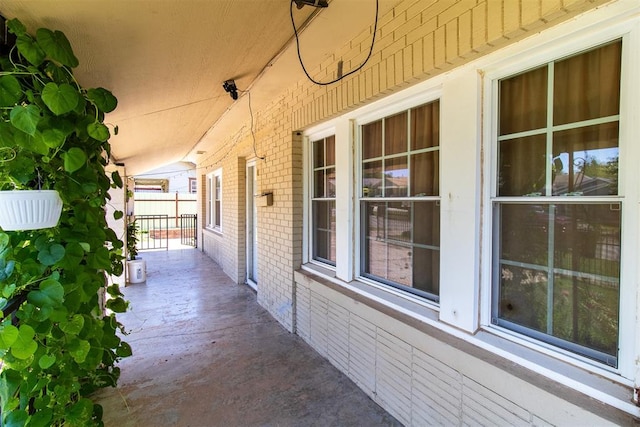
<instances>
[{"instance_id":1,"label":"dense green vine with heart-shaped leaves at the left","mask_svg":"<svg viewBox=\"0 0 640 427\"><path fill-rule=\"evenodd\" d=\"M78 84L62 32L33 37L17 19L8 28L16 45L0 58L0 190L57 190L63 210L57 227L0 231L0 424L101 425L91 393L114 386L116 362L131 355L115 314L127 303L107 282L123 272L123 243L105 218L109 189L122 188L105 173L104 115L117 100Z\"/></svg>"}]
</instances>

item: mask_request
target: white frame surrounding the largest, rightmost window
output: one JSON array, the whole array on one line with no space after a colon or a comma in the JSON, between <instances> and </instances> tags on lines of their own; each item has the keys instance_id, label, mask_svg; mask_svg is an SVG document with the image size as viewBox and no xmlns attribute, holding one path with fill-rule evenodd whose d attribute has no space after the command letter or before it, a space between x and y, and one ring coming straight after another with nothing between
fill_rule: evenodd
<instances>
[{"instance_id":1,"label":"white frame surrounding the largest, rightmost window","mask_svg":"<svg viewBox=\"0 0 640 427\"><path fill-rule=\"evenodd\" d=\"M638 122L638 118L633 119L633 112L637 116L637 96L634 99L633 93L638 93L639 84L634 81L633 76L640 72L640 25L629 21L622 21L617 25L598 24L597 28L582 28L574 33L555 34L552 29L545 36L547 40L538 44L531 44L529 49L520 50L503 61L497 61L484 68L484 99L485 123L484 123L484 150L490 153L485 156L484 167L484 206L483 206L483 232L486 236L482 242L483 254L486 254L482 262L482 287L486 290L482 292L481 300L481 325L487 331L504 337L510 341L531 347L536 351L559 358L584 369L595 371L606 375L610 372L632 379L635 375L633 355L635 354L636 336L635 328L638 326L635 321L637 305L636 299L638 291L635 283L638 277L636 258L640 246L637 243L639 228L638 218L640 210L638 204L640 198L638 191L630 192L632 182L639 182L637 163L640 161L640 149L634 147L633 141L640 138L640 132L634 128L633 123ZM564 57L569 57L580 52L584 52L608 42L622 39L622 70L620 82L620 119L619 119L619 193L616 199L622 202L622 222L621 222L621 271L620 271L620 316L618 324L618 367L613 368L603 363L595 362L586 357L580 356L566 350L562 350L551 344L546 344L535 338L521 335L516 332L495 326L491 322L492 307L491 295L494 292L492 283L492 239L493 230L493 200L496 197L497 179L497 86L500 79L514 76L520 72L535 68L536 66L548 64ZM635 92L634 92L635 90ZM633 105L635 103L635 106ZM635 110L634 110L635 108ZM635 144L638 145L638 144ZM607 199L606 197L603 199ZM576 200L578 201L578 200ZM586 201L586 200L585 200ZM615 377L611 377L615 378ZM620 380L620 377L617 378Z\"/></svg>"}]
</instances>

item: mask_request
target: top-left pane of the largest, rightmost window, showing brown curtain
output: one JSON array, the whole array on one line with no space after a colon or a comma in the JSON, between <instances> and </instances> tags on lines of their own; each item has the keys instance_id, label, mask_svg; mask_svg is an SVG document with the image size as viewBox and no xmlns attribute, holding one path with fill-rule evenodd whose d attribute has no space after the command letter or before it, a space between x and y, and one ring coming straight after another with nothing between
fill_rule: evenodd
<instances>
[{"instance_id":1,"label":"top-left pane of the largest, rightmost window, showing brown curtain","mask_svg":"<svg viewBox=\"0 0 640 427\"><path fill-rule=\"evenodd\" d=\"M500 81L499 135L547 124L547 66Z\"/></svg>"}]
</instances>

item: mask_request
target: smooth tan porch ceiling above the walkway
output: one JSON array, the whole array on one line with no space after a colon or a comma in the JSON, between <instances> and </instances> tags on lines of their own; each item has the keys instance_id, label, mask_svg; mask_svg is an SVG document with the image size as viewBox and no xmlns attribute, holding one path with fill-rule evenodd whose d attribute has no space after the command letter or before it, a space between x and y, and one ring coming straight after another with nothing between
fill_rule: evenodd
<instances>
[{"instance_id":1,"label":"smooth tan porch ceiling above the walkway","mask_svg":"<svg viewBox=\"0 0 640 427\"><path fill-rule=\"evenodd\" d=\"M398 2L381 0L380 16ZM374 12L375 0L294 7L297 27L316 13L301 35L307 68L372 24ZM119 127L112 154L129 175L195 161L246 122L247 97L233 101L225 80L251 89L256 110L304 78L288 0L2 0L0 14L33 32L63 31L80 61L78 81L118 98L106 122Z\"/></svg>"}]
</instances>

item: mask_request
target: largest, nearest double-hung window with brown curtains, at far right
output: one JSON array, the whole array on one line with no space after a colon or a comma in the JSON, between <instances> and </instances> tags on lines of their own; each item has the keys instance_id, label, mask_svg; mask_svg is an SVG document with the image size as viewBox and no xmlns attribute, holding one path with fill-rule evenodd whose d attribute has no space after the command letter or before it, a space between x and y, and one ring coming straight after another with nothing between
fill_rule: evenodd
<instances>
[{"instance_id":1,"label":"largest, nearest double-hung window with brown curtains, at far right","mask_svg":"<svg viewBox=\"0 0 640 427\"><path fill-rule=\"evenodd\" d=\"M492 322L617 366L622 42L498 81Z\"/></svg>"}]
</instances>

